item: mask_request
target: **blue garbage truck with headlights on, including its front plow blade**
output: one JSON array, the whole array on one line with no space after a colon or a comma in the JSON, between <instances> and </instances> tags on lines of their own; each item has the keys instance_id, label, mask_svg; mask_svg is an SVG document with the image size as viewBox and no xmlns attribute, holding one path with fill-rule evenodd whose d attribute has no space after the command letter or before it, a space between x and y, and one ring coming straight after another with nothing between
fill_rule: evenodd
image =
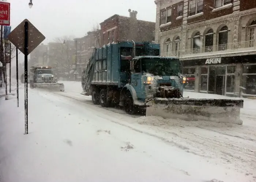
<instances>
[{"instance_id":1,"label":"blue garbage truck with headlights on, including its front plow blade","mask_svg":"<svg viewBox=\"0 0 256 182\"><path fill-rule=\"evenodd\" d=\"M123 106L127 114L242 124L243 100L183 98L186 76L176 57L159 44L119 42L95 48L82 74L82 95L94 104Z\"/></svg>"}]
</instances>

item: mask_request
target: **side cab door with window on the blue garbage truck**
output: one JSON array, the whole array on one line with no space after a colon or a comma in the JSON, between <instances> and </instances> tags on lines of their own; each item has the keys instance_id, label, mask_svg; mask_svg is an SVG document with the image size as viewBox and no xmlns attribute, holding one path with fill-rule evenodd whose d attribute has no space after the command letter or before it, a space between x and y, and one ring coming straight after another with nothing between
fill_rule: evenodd
<instances>
[{"instance_id":1,"label":"side cab door with window on the blue garbage truck","mask_svg":"<svg viewBox=\"0 0 256 182\"><path fill-rule=\"evenodd\" d=\"M142 73L141 73L141 62L140 60L135 60L134 61L134 72L131 74L131 84L133 88L135 89L136 93L141 92L141 78L142 78Z\"/></svg>"}]
</instances>

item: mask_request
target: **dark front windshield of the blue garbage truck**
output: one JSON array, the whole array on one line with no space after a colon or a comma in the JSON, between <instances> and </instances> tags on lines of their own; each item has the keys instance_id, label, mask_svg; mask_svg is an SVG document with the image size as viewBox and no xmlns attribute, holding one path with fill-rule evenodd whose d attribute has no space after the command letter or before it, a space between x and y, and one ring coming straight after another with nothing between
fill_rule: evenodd
<instances>
[{"instance_id":1,"label":"dark front windshield of the blue garbage truck","mask_svg":"<svg viewBox=\"0 0 256 182\"><path fill-rule=\"evenodd\" d=\"M142 58L142 72L153 75L178 75L180 64L178 59Z\"/></svg>"}]
</instances>

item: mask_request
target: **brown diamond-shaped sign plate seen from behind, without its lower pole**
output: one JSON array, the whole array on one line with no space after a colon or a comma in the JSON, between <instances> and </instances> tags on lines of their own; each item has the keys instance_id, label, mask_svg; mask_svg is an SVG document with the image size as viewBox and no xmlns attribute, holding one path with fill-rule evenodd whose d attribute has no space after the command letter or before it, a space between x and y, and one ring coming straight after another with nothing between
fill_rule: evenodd
<instances>
[{"instance_id":1,"label":"brown diamond-shaped sign plate seen from behind, without its lower pole","mask_svg":"<svg viewBox=\"0 0 256 182\"><path fill-rule=\"evenodd\" d=\"M25 54L24 41L25 41L25 22L28 22L28 55L45 40L45 36L39 32L35 26L30 23L29 20L23 20L11 33L8 35L8 39L14 46Z\"/></svg>"}]
</instances>

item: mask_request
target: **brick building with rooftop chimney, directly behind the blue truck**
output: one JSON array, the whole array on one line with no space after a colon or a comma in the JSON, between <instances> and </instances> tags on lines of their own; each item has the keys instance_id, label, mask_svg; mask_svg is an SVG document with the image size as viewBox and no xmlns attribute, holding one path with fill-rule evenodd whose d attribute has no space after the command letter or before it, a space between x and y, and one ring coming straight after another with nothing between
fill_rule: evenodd
<instances>
[{"instance_id":1,"label":"brick building with rooftop chimney, directly behind the blue truck","mask_svg":"<svg viewBox=\"0 0 256 182\"><path fill-rule=\"evenodd\" d=\"M155 23L137 20L137 12L129 9L130 16L113 15L100 23L101 46L118 41L154 41Z\"/></svg>"}]
</instances>

